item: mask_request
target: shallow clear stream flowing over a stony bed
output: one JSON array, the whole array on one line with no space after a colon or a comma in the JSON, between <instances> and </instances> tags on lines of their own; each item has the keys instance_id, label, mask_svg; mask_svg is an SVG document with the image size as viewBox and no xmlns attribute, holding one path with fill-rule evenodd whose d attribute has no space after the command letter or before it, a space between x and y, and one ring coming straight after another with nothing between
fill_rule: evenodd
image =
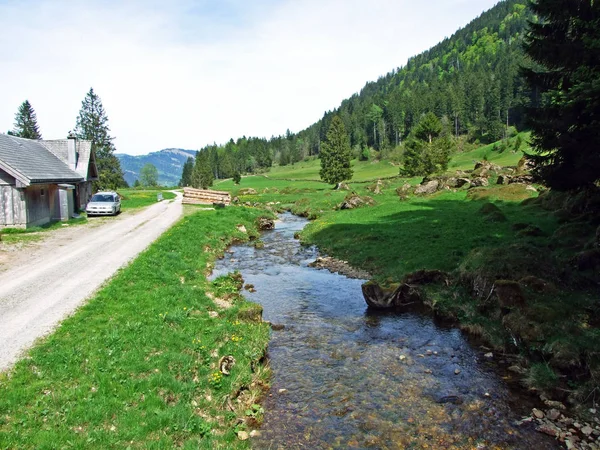
<instances>
[{"instance_id":1,"label":"shallow clear stream flowing over a stony bed","mask_svg":"<svg viewBox=\"0 0 600 450\"><path fill-rule=\"evenodd\" d=\"M317 251L293 238L307 221L280 219L263 249L233 247L214 272L240 271L256 289L245 296L285 326L255 448L559 448L513 425L519 397L460 331L367 310L362 280L307 267Z\"/></svg>"}]
</instances>

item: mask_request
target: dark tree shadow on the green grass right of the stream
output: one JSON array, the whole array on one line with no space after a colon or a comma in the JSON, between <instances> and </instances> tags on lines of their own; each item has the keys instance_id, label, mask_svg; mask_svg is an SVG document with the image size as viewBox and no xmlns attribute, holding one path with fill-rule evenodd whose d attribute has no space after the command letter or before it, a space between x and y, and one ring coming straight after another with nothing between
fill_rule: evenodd
<instances>
[{"instance_id":1,"label":"dark tree shadow on the green grass right of the stream","mask_svg":"<svg viewBox=\"0 0 600 450\"><path fill-rule=\"evenodd\" d=\"M395 212L390 211L392 205L340 212L337 223L316 231L311 241L375 278L394 280L419 269L452 271L480 247L498 248L516 240L546 245L544 236L524 238L513 229L515 223L550 228L546 212L496 201L497 211L492 208L494 214L486 214L486 203L432 199L407 202L400 211L393 205Z\"/></svg>"}]
</instances>

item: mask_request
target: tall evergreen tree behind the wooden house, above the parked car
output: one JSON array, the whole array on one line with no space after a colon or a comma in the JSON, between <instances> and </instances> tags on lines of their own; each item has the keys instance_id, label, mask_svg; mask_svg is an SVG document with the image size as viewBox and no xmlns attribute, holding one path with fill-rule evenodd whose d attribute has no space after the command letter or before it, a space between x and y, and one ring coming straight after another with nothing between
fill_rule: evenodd
<instances>
[{"instance_id":1,"label":"tall evergreen tree behind the wooden house, above the parked car","mask_svg":"<svg viewBox=\"0 0 600 450\"><path fill-rule=\"evenodd\" d=\"M98 165L98 181L94 182L94 190L118 189L127 186L119 159L114 155L115 146L108 128L108 117L102 106L100 97L90 88L81 102L77 116L75 135L79 139L92 141Z\"/></svg>"}]
</instances>

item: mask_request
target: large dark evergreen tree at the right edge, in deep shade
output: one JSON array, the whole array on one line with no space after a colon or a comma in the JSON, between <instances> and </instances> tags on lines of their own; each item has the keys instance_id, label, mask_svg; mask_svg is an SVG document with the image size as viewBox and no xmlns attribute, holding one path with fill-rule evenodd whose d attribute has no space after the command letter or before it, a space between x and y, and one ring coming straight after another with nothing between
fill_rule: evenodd
<instances>
[{"instance_id":1,"label":"large dark evergreen tree at the right edge, in deep shade","mask_svg":"<svg viewBox=\"0 0 600 450\"><path fill-rule=\"evenodd\" d=\"M538 0L523 74L539 103L530 111L534 172L552 188L600 180L600 2Z\"/></svg>"}]
</instances>

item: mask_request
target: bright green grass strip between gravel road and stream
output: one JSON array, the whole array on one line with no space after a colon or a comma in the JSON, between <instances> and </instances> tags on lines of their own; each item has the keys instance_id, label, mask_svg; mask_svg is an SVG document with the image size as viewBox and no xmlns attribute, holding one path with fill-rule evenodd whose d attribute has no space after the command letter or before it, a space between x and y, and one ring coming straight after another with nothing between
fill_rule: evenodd
<instances>
[{"instance_id":1,"label":"bright green grass strip between gravel road and stream","mask_svg":"<svg viewBox=\"0 0 600 450\"><path fill-rule=\"evenodd\" d=\"M270 331L238 276L205 275L232 239L258 235L260 215L186 215L0 374L0 448L247 448L237 432L267 383Z\"/></svg>"}]
</instances>

